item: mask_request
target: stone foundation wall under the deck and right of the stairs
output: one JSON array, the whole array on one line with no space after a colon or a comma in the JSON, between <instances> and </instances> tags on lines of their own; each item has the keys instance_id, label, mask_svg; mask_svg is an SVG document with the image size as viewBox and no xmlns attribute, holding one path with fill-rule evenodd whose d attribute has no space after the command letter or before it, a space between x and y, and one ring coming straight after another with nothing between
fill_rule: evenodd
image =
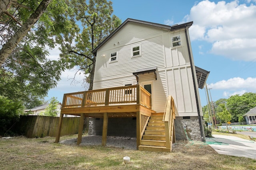
<instances>
[{"instance_id":1,"label":"stone foundation wall under the deck and right of the stairs","mask_svg":"<svg viewBox=\"0 0 256 170\"><path fill-rule=\"evenodd\" d=\"M176 117L174 120L176 140L201 141L197 116ZM185 130L186 133L185 133ZM88 135L102 135L103 118L90 118ZM136 117L108 118L108 136L136 137Z\"/></svg>"}]
</instances>

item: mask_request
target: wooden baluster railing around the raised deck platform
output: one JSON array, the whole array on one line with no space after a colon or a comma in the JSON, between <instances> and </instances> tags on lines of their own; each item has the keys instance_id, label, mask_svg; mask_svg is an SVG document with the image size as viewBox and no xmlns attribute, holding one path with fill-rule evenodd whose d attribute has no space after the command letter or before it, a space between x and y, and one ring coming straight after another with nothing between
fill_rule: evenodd
<instances>
[{"instance_id":1,"label":"wooden baluster railing around the raised deck platform","mask_svg":"<svg viewBox=\"0 0 256 170\"><path fill-rule=\"evenodd\" d=\"M151 108L151 94L140 85L64 94L62 108L142 104Z\"/></svg>"}]
</instances>

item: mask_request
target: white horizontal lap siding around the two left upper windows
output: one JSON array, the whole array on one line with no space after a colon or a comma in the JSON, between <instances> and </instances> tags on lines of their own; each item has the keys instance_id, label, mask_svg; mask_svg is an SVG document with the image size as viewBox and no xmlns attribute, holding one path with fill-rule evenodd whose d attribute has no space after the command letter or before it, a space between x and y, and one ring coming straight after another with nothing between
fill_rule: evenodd
<instances>
[{"instance_id":1,"label":"white horizontal lap siding around the two left upper windows","mask_svg":"<svg viewBox=\"0 0 256 170\"><path fill-rule=\"evenodd\" d=\"M112 45L116 41L120 44L113 48ZM141 56L131 56L134 45L141 45ZM118 61L110 63L110 53L116 51L118 51ZM110 79L118 79L124 75L133 76L132 72L153 66L158 68L165 66L162 31L152 27L127 24L97 51L94 89L102 86L98 83L104 84L104 81L110 82ZM106 87L113 86L110 83L106 85Z\"/></svg>"}]
</instances>

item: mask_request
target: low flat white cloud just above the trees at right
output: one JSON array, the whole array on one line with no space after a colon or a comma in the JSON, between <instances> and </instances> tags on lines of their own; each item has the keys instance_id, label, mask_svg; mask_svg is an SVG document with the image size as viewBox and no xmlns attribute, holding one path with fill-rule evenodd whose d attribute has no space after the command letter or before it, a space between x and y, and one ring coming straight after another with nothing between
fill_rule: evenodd
<instances>
[{"instance_id":1,"label":"low flat white cloud just above the trees at right","mask_svg":"<svg viewBox=\"0 0 256 170\"><path fill-rule=\"evenodd\" d=\"M211 83L208 85L209 88L218 90L238 90L238 91L248 91L256 92L256 78L240 78L234 77L228 80L221 80L216 83Z\"/></svg>"}]
</instances>

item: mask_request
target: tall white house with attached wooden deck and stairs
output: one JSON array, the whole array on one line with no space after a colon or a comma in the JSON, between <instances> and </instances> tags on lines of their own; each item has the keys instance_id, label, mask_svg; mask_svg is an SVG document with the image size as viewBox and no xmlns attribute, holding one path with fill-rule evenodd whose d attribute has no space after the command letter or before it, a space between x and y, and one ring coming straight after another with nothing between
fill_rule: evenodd
<instances>
[{"instance_id":1,"label":"tall white house with attached wooden deck and stairs","mask_svg":"<svg viewBox=\"0 0 256 170\"><path fill-rule=\"evenodd\" d=\"M176 139L187 139L188 135L192 140L205 141L198 88L204 88L210 72L194 65L188 33L192 23L168 26L127 19L94 49L93 90L64 94L61 109L61 114L81 116L78 144L85 116L92 117L88 134L102 135L103 146L107 133L136 137L139 150L150 150L145 145L165 145L156 145L160 143L157 138L166 139L166 145L170 145L159 130L165 126L162 113L168 96L172 96L170 101L174 100L177 109L175 132L170 129L170 137L174 134ZM148 91L146 96L144 89ZM171 107L176 112L175 106ZM161 118L151 120L153 116ZM159 131L147 130L149 124L159 127ZM58 134L60 131L61 124ZM152 139L144 140L148 138L146 133L160 135L150 134ZM56 142L59 139L60 135ZM161 147L158 151L164 150Z\"/></svg>"}]
</instances>

